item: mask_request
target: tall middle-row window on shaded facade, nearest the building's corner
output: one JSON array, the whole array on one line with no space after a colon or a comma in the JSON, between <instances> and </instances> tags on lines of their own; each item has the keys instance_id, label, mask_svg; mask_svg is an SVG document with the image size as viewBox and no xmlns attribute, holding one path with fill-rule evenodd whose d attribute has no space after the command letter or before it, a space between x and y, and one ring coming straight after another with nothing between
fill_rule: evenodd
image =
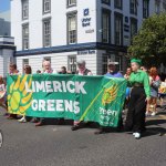
<instances>
[{"instance_id":1,"label":"tall middle-row window on shaded facade, nearest the building's corner","mask_svg":"<svg viewBox=\"0 0 166 166\"><path fill-rule=\"evenodd\" d=\"M111 12L108 10L103 10L102 12L102 42L111 42Z\"/></svg>"}]
</instances>

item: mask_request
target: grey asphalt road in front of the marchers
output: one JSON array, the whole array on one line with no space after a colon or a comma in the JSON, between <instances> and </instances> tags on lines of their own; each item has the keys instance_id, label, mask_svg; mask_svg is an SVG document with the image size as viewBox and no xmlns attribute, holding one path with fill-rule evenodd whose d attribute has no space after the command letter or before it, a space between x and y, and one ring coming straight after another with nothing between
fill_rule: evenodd
<instances>
[{"instance_id":1,"label":"grey asphalt road in front of the marchers","mask_svg":"<svg viewBox=\"0 0 166 166\"><path fill-rule=\"evenodd\" d=\"M94 135L96 128L20 124L0 111L0 166L165 166L166 111L158 112L146 120L147 132L137 141L132 133Z\"/></svg>"}]
</instances>

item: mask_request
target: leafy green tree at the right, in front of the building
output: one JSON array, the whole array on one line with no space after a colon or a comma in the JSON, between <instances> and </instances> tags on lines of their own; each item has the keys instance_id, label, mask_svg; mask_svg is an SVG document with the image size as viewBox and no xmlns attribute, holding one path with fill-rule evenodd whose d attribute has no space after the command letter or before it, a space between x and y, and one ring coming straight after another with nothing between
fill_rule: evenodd
<instances>
[{"instance_id":1,"label":"leafy green tree at the right, in front of the building","mask_svg":"<svg viewBox=\"0 0 166 166\"><path fill-rule=\"evenodd\" d=\"M129 58L139 58L147 65L166 65L166 13L144 20L127 52Z\"/></svg>"}]
</instances>

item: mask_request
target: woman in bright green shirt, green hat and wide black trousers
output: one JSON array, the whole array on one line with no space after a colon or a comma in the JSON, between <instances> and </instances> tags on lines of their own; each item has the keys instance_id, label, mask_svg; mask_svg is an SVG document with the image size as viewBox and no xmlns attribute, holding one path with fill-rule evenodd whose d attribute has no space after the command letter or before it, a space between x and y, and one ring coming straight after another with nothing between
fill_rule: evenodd
<instances>
[{"instance_id":1,"label":"woman in bright green shirt, green hat and wide black trousers","mask_svg":"<svg viewBox=\"0 0 166 166\"><path fill-rule=\"evenodd\" d=\"M132 86L125 129L133 131L136 139L141 138L142 132L145 131L146 103L151 96L149 79L147 73L139 69L141 64L141 60L133 59L131 61L133 72L128 79L125 77Z\"/></svg>"}]
</instances>

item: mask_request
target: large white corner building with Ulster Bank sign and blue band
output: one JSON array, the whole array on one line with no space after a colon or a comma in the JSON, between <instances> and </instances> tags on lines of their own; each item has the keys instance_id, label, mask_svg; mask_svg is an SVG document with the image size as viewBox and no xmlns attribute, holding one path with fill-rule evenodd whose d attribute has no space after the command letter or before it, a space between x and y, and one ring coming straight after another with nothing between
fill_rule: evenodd
<instances>
[{"instance_id":1,"label":"large white corner building with Ulster Bank sign and blue band","mask_svg":"<svg viewBox=\"0 0 166 166\"><path fill-rule=\"evenodd\" d=\"M49 59L54 70L75 71L83 59L94 74L107 61L126 68L126 48L148 15L166 10L165 0L11 0L11 34L18 70L33 73Z\"/></svg>"}]
</instances>

